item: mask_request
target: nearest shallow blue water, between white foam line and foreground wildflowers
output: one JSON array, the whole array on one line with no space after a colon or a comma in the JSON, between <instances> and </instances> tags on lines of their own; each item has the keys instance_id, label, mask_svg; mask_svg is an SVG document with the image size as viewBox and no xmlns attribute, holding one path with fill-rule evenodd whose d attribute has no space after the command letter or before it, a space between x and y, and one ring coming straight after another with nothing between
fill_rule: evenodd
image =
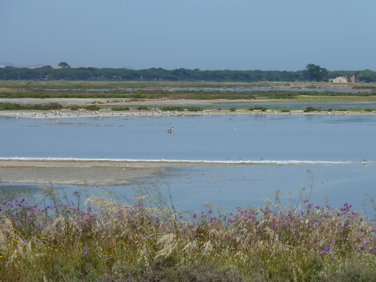
<instances>
[{"instance_id":1,"label":"nearest shallow blue water, between white foam line and foreground wildflowers","mask_svg":"<svg viewBox=\"0 0 376 282\"><path fill-rule=\"evenodd\" d=\"M312 185L310 199L315 205L328 204L331 207L341 207L345 202L349 202L355 209L363 209L363 203L368 200L364 193L376 197L375 175L376 165L369 163L366 165L188 165L176 166L173 171L159 173L154 177L135 179L133 185L53 185L53 187L61 196L65 192L73 202L75 202L73 192L78 188L87 190L89 195L100 194L106 189L127 197L134 196L134 188L137 187L143 188L144 192L148 193L155 192L157 188L170 207L172 201L181 211L191 208L198 212L205 210L202 207L205 203L217 205L224 210L234 210L237 206L260 206L264 204L265 198L274 201L277 190L283 194L280 196L280 203L290 206L291 202L291 206L294 207L303 186L306 190L303 192L302 199L305 199L309 197ZM3 183L2 196L10 198L30 193L36 197L42 194L40 186L50 187L50 184ZM292 201L289 200L290 195Z\"/></svg>"}]
</instances>

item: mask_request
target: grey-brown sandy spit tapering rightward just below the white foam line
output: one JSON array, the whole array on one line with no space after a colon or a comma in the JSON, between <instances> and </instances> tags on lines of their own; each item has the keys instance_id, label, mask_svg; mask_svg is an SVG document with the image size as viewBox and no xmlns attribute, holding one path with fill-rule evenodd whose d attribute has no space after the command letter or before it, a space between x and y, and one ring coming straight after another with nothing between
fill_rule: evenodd
<instances>
[{"instance_id":1,"label":"grey-brown sandy spit tapering rightward just below the white foam line","mask_svg":"<svg viewBox=\"0 0 376 282\"><path fill-rule=\"evenodd\" d=\"M2 182L52 183L72 185L121 185L132 180L173 171L179 165L256 165L205 162L143 162L105 160L0 160ZM262 165L262 164L257 164ZM266 164L269 165L269 164Z\"/></svg>"}]
</instances>

